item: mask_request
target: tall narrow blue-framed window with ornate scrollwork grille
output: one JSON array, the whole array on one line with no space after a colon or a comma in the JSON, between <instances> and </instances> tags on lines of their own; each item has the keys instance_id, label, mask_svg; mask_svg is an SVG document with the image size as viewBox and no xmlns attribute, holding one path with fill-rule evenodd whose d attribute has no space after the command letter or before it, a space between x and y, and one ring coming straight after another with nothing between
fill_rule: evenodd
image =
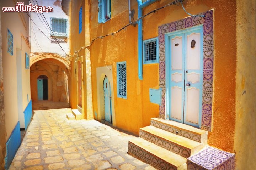
<instances>
[{"instance_id":1,"label":"tall narrow blue-framed window with ornate scrollwork grille","mask_svg":"<svg viewBox=\"0 0 256 170\"><path fill-rule=\"evenodd\" d=\"M117 97L127 99L126 62L117 63Z\"/></svg>"}]
</instances>

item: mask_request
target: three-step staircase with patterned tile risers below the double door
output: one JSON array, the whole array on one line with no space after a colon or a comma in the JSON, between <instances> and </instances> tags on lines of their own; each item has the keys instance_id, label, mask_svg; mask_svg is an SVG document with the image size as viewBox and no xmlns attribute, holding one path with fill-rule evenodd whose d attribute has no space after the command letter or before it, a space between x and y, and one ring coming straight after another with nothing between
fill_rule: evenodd
<instances>
[{"instance_id":1,"label":"three-step staircase with patterned tile risers below the double door","mask_svg":"<svg viewBox=\"0 0 256 170\"><path fill-rule=\"evenodd\" d=\"M151 118L129 141L128 153L161 170L186 170L187 158L207 144L207 131L182 123Z\"/></svg>"}]
</instances>

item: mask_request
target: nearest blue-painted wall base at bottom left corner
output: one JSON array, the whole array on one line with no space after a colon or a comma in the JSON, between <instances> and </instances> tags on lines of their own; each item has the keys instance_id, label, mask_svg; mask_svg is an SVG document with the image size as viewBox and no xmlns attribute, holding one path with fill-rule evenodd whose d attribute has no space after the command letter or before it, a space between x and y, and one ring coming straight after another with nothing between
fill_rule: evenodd
<instances>
[{"instance_id":1,"label":"nearest blue-painted wall base at bottom left corner","mask_svg":"<svg viewBox=\"0 0 256 170\"><path fill-rule=\"evenodd\" d=\"M18 121L10 138L6 142L5 169L8 169L11 162L21 145L20 122Z\"/></svg>"}]
</instances>

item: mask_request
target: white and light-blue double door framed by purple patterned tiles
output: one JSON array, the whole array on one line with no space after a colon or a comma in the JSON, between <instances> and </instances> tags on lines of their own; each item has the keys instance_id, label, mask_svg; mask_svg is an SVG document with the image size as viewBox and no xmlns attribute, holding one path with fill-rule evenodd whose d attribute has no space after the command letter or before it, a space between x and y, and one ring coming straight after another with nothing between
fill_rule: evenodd
<instances>
[{"instance_id":1,"label":"white and light-blue double door framed by purple patterned tiles","mask_svg":"<svg viewBox=\"0 0 256 170\"><path fill-rule=\"evenodd\" d=\"M203 34L196 27L166 35L169 119L201 126Z\"/></svg>"}]
</instances>

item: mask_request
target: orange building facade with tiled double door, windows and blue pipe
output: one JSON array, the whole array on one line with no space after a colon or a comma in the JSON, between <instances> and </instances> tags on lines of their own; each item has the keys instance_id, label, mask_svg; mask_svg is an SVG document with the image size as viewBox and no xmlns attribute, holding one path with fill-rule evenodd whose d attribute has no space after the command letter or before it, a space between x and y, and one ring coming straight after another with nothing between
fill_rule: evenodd
<instances>
[{"instance_id":1,"label":"orange building facade with tiled double door, windows and blue pipe","mask_svg":"<svg viewBox=\"0 0 256 170\"><path fill-rule=\"evenodd\" d=\"M83 80L72 83L71 106L82 101L85 118L136 135L153 117L192 125L208 131L208 145L236 153L237 169L246 169L242 154L255 153L238 146L241 133L255 125L243 126L253 111L238 91L252 81L241 71L241 56L249 54L239 48L244 28L255 29L242 18L249 12L241 12L247 10L239 0L182 3L71 1L71 79ZM249 136L246 143L255 148L255 136Z\"/></svg>"}]
</instances>

